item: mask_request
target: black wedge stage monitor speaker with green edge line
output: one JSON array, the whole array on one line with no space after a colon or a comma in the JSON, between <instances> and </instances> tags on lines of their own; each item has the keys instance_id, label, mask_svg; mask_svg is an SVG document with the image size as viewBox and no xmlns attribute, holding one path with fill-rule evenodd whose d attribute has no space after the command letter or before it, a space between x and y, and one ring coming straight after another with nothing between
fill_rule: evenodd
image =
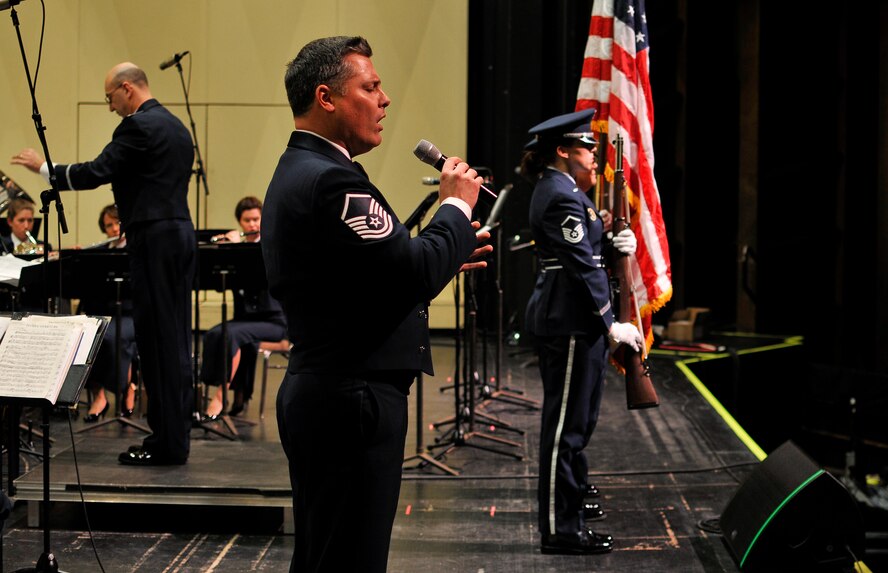
<instances>
[{"instance_id":1,"label":"black wedge stage monitor speaker with green edge line","mask_svg":"<svg viewBox=\"0 0 888 573\"><path fill-rule=\"evenodd\" d=\"M720 525L744 572L847 570L865 551L854 498L792 442L747 477Z\"/></svg>"}]
</instances>

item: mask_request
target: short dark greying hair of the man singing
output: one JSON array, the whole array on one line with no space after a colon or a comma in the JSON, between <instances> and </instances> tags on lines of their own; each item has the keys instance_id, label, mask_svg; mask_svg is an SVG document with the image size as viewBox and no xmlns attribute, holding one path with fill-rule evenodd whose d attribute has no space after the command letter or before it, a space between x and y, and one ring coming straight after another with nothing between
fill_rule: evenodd
<instances>
[{"instance_id":1,"label":"short dark greying hair of the man singing","mask_svg":"<svg viewBox=\"0 0 888 573\"><path fill-rule=\"evenodd\" d=\"M332 36L312 40L287 63L284 87L293 117L304 115L311 109L315 89L322 84L336 93L344 94L345 81L354 73L345 63L349 54L373 56L367 40L361 36Z\"/></svg>"}]
</instances>

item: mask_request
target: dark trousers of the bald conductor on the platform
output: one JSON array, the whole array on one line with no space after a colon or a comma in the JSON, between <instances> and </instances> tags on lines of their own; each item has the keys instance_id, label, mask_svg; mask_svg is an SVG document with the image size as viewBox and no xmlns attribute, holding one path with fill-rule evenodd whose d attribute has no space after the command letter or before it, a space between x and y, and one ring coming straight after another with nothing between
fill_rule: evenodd
<instances>
[{"instance_id":1,"label":"dark trousers of the bald conductor on the platform","mask_svg":"<svg viewBox=\"0 0 888 573\"><path fill-rule=\"evenodd\" d=\"M149 221L127 228L133 322L155 459L184 463L191 446L194 396L191 297L196 242L191 220Z\"/></svg>"}]
</instances>

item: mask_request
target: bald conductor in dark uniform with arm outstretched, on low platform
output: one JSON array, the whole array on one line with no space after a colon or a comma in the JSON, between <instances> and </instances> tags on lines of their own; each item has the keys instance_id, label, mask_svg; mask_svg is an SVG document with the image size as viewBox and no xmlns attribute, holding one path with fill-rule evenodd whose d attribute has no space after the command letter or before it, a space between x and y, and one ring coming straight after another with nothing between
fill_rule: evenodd
<instances>
[{"instance_id":1,"label":"bald conductor in dark uniform with arm outstretched, on low platform","mask_svg":"<svg viewBox=\"0 0 888 573\"><path fill-rule=\"evenodd\" d=\"M56 164L60 189L110 183L127 236L133 322L151 435L119 456L123 464L184 464L190 449L191 285L196 241L188 210L194 162L191 135L152 96L145 72L130 62L105 77L105 101L123 119L92 161ZM33 149L13 157L48 177Z\"/></svg>"}]
</instances>

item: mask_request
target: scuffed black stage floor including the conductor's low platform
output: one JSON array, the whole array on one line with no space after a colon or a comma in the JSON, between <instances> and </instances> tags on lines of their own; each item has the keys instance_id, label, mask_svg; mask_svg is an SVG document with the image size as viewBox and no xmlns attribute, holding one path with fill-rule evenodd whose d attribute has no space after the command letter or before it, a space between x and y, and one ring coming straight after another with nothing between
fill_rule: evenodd
<instances>
[{"instance_id":1,"label":"scuffed black stage floor including the conductor's low platform","mask_svg":"<svg viewBox=\"0 0 888 573\"><path fill-rule=\"evenodd\" d=\"M675 357L651 359L658 408L628 410L622 378L614 372L607 378L587 454L590 481L607 512L592 525L612 534L616 549L553 556L540 553L536 527L534 403L542 388L533 355L505 348L499 389L506 392L486 401L479 395L474 423L465 428L470 437L449 447L454 346L446 336L434 341L438 375L423 380L421 420L416 387L411 394L405 458L417 452L420 428L423 444L441 457L438 464L405 463L390 572L738 571L718 533L718 517L758 460L675 366ZM482 380L495 375L493 356L488 348ZM280 377L280 370L271 371L264 420L255 396L241 416L258 425L238 424L237 440L194 429L191 459L181 467L118 465L117 454L143 434L116 422L75 433L72 448L66 419L54 415L49 548L60 569L285 571L292 542L285 533L289 483L274 414ZM79 420L72 424L75 432L84 427ZM34 527L39 503L24 501L42 499L42 466L30 455L22 461L26 473L17 481L20 495L3 539L7 571L32 567L44 550L42 524Z\"/></svg>"}]
</instances>

